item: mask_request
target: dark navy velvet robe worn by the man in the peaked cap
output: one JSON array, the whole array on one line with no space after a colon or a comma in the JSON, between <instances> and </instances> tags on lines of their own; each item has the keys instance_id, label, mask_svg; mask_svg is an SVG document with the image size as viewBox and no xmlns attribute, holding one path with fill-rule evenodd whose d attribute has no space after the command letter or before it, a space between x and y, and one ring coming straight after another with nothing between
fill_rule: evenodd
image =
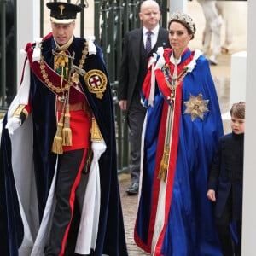
<instances>
[{"instance_id":1,"label":"dark navy velvet robe worn by the man in the peaked cap","mask_svg":"<svg viewBox=\"0 0 256 256\"><path fill-rule=\"evenodd\" d=\"M52 49L55 49L54 38L49 35L44 39L42 46L44 61L48 63L49 67L53 68L54 56L52 55ZM30 47L34 47L34 45L28 45L27 50ZM74 65L76 66L79 66L83 49L83 38L74 38L73 43L68 48L70 53L75 52ZM96 55L87 56L83 68L85 71L99 69L108 78L108 73L102 59L102 51L97 45L96 50ZM107 89L104 91L102 99L99 99L96 97L96 94L90 93L83 77L80 77L79 80L107 146L106 151L99 160L102 192L95 255L100 256L102 253L108 255L127 255L124 223L119 198L115 127L110 84L108 81ZM25 143L28 141L32 142L32 167L34 169L35 190L38 202L38 206L34 211L38 212L37 225L39 226L44 214L45 204L48 199L56 166L56 154L51 152L51 145L56 131L56 110L55 94L33 72L31 72L30 98L32 105L31 131L33 137L32 139L24 139ZM24 223L22 223L22 218L20 217L20 207L16 190L19 184L15 183L12 166L12 145L9 132L5 129L6 122L7 115L3 119L0 151L0 251L1 255L18 256L20 244L24 239ZM23 125L26 125L26 122ZM26 134L26 136L31 136L32 134ZM20 134L20 137L23 138L24 136L25 133ZM26 152L21 147L19 150L22 160L22 154L25 155ZM27 186L31 186L31 184L27 183ZM36 235L34 234L34 236Z\"/></svg>"}]
</instances>

